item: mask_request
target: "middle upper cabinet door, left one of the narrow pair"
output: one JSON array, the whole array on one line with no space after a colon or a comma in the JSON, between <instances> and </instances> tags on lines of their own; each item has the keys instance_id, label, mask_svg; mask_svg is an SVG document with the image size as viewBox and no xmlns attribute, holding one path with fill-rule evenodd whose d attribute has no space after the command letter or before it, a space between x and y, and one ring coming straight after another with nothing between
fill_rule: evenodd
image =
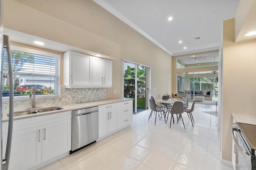
<instances>
[{"instance_id":1,"label":"middle upper cabinet door, left one of the narrow pair","mask_svg":"<svg viewBox=\"0 0 256 170\"><path fill-rule=\"evenodd\" d=\"M105 77L105 61L98 57L92 57L92 86L102 86Z\"/></svg>"}]
</instances>

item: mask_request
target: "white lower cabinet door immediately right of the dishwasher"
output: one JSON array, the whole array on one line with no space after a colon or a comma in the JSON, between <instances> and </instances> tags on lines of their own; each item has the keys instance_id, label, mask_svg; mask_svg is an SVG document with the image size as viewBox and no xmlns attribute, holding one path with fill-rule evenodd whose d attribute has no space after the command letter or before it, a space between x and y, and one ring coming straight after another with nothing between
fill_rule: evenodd
<instances>
[{"instance_id":1,"label":"white lower cabinet door immediately right of the dishwasher","mask_svg":"<svg viewBox=\"0 0 256 170\"><path fill-rule=\"evenodd\" d=\"M99 137L108 134L109 110L99 112Z\"/></svg>"}]
</instances>

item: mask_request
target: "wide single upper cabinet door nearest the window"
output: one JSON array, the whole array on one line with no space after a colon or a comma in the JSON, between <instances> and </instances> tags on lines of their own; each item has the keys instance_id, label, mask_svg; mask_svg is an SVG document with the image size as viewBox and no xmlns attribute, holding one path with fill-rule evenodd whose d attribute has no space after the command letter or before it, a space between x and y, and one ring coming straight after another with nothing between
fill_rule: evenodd
<instances>
[{"instance_id":1,"label":"wide single upper cabinet door nearest the window","mask_svg":"<svg viewBox=\"0 0 256 170\"><path fill-rule=\"evenodd\" d=\"M70 86L92 86L92 57L71 51Z\"/></svg>"}]
</instances>

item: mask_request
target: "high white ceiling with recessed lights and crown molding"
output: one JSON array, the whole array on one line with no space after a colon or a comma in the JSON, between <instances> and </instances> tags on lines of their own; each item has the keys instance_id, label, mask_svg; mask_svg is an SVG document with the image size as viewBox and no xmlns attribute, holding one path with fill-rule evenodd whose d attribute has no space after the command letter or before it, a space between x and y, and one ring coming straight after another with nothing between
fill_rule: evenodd
<instances>
[{"instance_id":1,"label":"high white ceiling with recessed lights and crown molding","mask_svg":"<svg viewBox=\"0 0 256 170\"><path fill-rule=\"evenodd\" d=\"M222 21L235 17L239 0L94 2L175 56L219 49ZM173 20L168 21L169 17ZM196 37L201 39L195 40Z\"/></svg>"}]
</instances>

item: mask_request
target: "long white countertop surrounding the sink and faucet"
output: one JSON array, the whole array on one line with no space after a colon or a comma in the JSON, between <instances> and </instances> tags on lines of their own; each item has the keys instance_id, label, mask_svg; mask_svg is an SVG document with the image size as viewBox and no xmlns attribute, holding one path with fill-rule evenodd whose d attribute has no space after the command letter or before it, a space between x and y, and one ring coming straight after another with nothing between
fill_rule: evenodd
<instances>
[{"instance_id":1,"label":"long white countertop surrounding the sink and faucet","mask_svg":"<svg viewBox=\"0 0 256 170\"><path fill-rule=\"evenodd\" d=\"M14 120L25 119L28 117L35 117L35 116L41 116L41 115L47 115L47 114L52 114L52 113L59 113L59 112L64 112L64 111L84 109L84 108L88 108L88 107L95 107L95 106L112 104L112 103L123 102L123 101L128 101L128 100L133 100L133 99L132 98L114 98L114 99L105 99L105 100L95 100L95 101L91 101L91 102L82 102L82 103L77 103L77 104L56 105L56 107L62 107L63 109L55 110L55 111L48 111L48 112L44 112L44 113L34 113L34 114L30 114L30 115L14 116ZM40 109L40 108L38 108L38 109ZM19 111L19 110L14 110L14 111ZM8 119L9 119L9 117L7 115L3 115L3 117L2 117L3 122L8 121Z\"/></svg>"}]
</instances>

